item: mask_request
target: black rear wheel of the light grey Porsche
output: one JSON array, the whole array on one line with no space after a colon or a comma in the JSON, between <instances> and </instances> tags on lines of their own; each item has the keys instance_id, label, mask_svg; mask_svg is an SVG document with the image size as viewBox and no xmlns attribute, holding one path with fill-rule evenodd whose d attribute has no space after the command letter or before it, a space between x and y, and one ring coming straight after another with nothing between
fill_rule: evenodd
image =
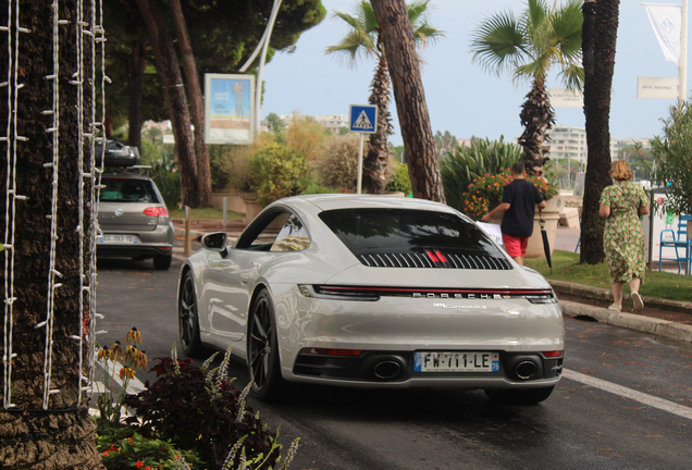
<instances>
[{"instance_id":1,"label":"black rear wheel of the light grey Porsche","mask_svg":"<svg viewBox=\"0 0 692 470\"><path fill-rule=\"evenodd\" d=\"M252 304L248 322L247 366L257 398L261 401L275 399L284 380L281 376L274 308L267 289L262 289Z\"/></svg>"}]
</instances>

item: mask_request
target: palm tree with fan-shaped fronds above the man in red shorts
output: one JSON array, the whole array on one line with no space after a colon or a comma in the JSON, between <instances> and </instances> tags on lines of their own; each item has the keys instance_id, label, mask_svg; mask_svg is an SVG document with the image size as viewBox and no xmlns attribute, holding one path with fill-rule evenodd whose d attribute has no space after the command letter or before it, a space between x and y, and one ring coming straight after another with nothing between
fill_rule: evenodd
<instances>
[{"instance_id":1,"label":"palm tree with fan-shaped fronds above the man in red shorts","mask_svg":"<svg viewBox=\"0 0 692 470\"><path fill-rule=\"evenodd\" d=\"M521 107L519 137L527 172L541 170L547 158L544 148L546 132L555 122L555 113L545 89L547 73L559 67L567 88L581 89L584 70L581 66L581 0L557 0L549 8L545 0L528 0L519 18L504 12L487 18L472 35L473 61L499 75L510 71L515 82L529 78L532 88Z\"/></svg>"}]
</instances>

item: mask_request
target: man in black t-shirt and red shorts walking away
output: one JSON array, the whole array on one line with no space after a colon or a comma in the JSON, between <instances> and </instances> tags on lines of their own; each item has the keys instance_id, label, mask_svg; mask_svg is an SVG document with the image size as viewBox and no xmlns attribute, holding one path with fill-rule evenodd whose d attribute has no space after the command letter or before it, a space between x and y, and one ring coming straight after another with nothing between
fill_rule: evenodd
<instances>
[{"instance_id":1,"label":"man in black t-shirt and red shorts walking away","mask_svg":"<svg viewBox=\"0 0 692 470\"><path fill-rule=\"evenodd\" d=\"M483 222L490 222L495 215L503 215L501 230L507 253L519 264L523 265L527 255L529 237L533 234L533 214L536 205L539 209L545 207L543 196L524 176L523 162L511 166L514 181L505 186L503 200L499 206L483 215Z\"/></svg>"}]
</instances>

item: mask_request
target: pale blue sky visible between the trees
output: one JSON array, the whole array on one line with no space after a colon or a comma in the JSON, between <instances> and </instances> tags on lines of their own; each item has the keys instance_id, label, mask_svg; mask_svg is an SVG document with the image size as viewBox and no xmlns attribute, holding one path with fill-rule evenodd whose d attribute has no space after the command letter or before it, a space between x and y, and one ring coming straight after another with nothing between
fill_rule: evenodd
<instances>
[{"instance_id":1,"label":"pale blue sky visible between the trees","mask_svg":"<svg viewBox=\"0 0 692 470\"><path fill-rule=\"evenodd\" d=\"M551 0L548 0L551 2ZM674 3L676 0L669 1ZM309 115L345 114L350 104L366 104L376 65L362 59L349 69L337 55L324 50L348 32L334 11L353 12L355 1L322 0L326 17L305 32L295 52L277 52L263 72L264 102L261 119L269 113ZM422 50L422 82L432 132L449 131L457 138L504 136L512 140L522 133L519 112L530 82L512 83L510 75L491 75L472 62L471 33L489 16L526 9L523 0L432 0L429 22L445 34ZM692 48L688 47L688 50ZM610 103L610 135L617 139L653 138L662 133L660 118L668 115L671 99L637 98L637 77L677 77L674 62L666 62L640 0L621 0L615 75ZM557 71L548 74L548 86L561 87ZM688 78L688 95L692 78ZM581 108L556 108L556 124L584 127ZM391 113L395 135L390 141L403 145L396 104Z\"/></svg>"}]
</instances>

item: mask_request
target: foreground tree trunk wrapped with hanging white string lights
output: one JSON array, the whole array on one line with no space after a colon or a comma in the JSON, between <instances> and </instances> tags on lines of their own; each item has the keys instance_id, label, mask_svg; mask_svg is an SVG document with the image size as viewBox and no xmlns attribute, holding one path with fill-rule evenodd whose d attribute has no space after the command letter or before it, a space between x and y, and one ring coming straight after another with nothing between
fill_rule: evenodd
<instances>
[{"instance_id":1,"label":"foreground tree trunk wrapped with hanging white string lights","mask_svg":"<svg viewBox=\"0 0 692 470\"><path fill-rule=\"evenodd\" d=\"M15 2L12 2L13 9ZM79 301L84 295L81 288L79 251L83 243L84 259L90 258L90 244L82 240L81 232L88 228L79 220L79 190L82 175L78 159L79 147L85 149L89 162L88 145L79 141L78 128L91 132L90 81L92 38L85 36L82 41L82 60L77 48L75 28L90 28L90 8L83 7L82 21L77 22L77 7L74 2L59 2L55 14L67 23L59 27L58 81L46 79L54 73L53 66L53 11L50 2L22 2L18 18L12 11L9 22L12 38L12 69L16 66L17 78L11 70L10 84L0 88L0 134L10 138L0 144L0 213L2 213L3 244L12 244L0 253L3 269L0 270L0 285L4 286L5 333L0 342L2 356L12 354L3 364L3 404L15 407L0 408L0 467L30 469L102 469L101 456L96 450L96 429L88 416L86 399L78 405L81 378L88 371L79 364L87 363L88 350L79 350L79 342L73 336L83 334ZM0 10L8 11L8 1L0 1ZM18 23L17 23L18 22ZM17 24L30 29L20 33L18 44L14 42ZM0 76L8 77L7 35L2 35L0 47ZM14 57L14 47L18 47ZM82 64L81 74L77 63ZM83 83L83 101L78 100L78 87ZM59 114L44 113L53 110L53 85L59 84ZM23 85L15 91L15 85ZM16 109L8 110L8 94L12 101L16 98ZM78 111L83 111L79 122ZM60 118L57 133L48 133L54 127L53 118ZM13 136L23 136L27 140ZM57 146L53 136L58 137ZM60 156L58 171L58 198L53 201L53 150ZM8 162L8 156L10 161ZM16 156L16 158L14 158ZM87 170L89 166L85 166ZM87 170L88 171L88 170ZM90 180L84 178L85 190L90 189ZM21 197L13 197L12 193ZM51 214L55 203L58 218L55 226L55 249L51 253ZM88 214L87 208L84 207ZM12 221L14 223L12 223ZM82 226L83 231L76 228ZM85 233L85 235L87 235ZM52 335L47 326L39 323L47 320L51 257L54 270L60 272L52 297ZM87 267L88 268L88 267ZM86 268L85 268L86 270ZM8 275L5 276L5 273ZM11 274L11 275L10 275ZM14 300L9 302L8 298ZM85 301L88 318L88 301ZM58 389L49 395L48 410L42 409L45 393L45 360L47 344L51 344L51 363L48 389ZM11 350L10 350L11 348ZM88 349L88 348L85 348ZM50 354L50 350L49 350ZM82 356L81 356L82 355ZM11 366L11 368L10 368ZM5 386L9 393L5 393Z\"/></svg>"}]
</instances>

